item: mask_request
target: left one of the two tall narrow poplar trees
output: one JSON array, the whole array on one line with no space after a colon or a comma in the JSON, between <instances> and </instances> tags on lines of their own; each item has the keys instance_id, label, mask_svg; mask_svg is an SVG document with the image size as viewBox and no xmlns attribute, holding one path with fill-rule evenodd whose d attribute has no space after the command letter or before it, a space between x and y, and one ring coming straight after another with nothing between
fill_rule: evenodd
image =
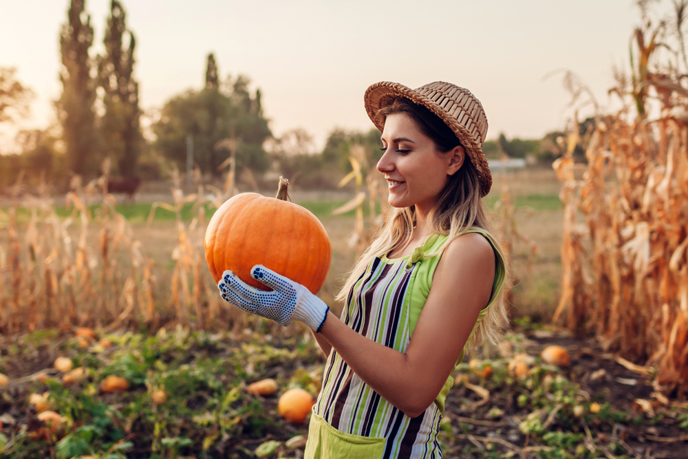
<instances>
[{"instance_id":1,"label":"left one of the two tall narrow poplar trees","mask_svg":"<svg viewBox=\"0 0 688 459\"><path fill-rule=\"evenodd\" d=\"M85 175L98 169L94 111L96 87L89 57L93 28L91 17L85 12L85 0L72 0L67 18L60 33L63 92L57 107L67 151L67 167Z\"/></svg>"}]
</instances>

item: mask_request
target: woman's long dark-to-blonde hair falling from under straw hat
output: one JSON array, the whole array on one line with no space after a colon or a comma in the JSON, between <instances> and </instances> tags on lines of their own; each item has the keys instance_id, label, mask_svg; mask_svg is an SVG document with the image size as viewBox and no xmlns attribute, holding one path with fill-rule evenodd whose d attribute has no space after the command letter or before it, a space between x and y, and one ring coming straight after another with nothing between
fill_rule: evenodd
<instances>
[{"instance_id":1,"label":"woman's long dark-to-blonde hair falling from under straw hat","mask_svg":"<svg viewBox=\"0 0 688 459\"><path fill-rule=\"evenodd\" d=\"M460 145L454 132L438 116L429 109L416 105L406 98L396 98L390 101L388 105L378 111L377 116L387 119L387 116L392 114L410 116L423 134L431 138L438 150L444 153ZM464 160L464 164L456 173L449 176L446 186L440 193L440 198L429 213L428 220L431 233L439 233L449 237L437 252L427 255L438 255L456 237L465 234L470 229L480 229L492 237L497 245L496 250L499 250L506 263L504 252L497 244L496 237L493 236L488 211L480 196L480 179L469 158ZM350 290L356 284L356 279L367 268L372 259L382 257L394 248L405 246L411 239L415 226L415 206L391 209L383 226L378 229L368 248L354 264L348 274L347 281L336 295L336 300L346 301ZM508 277L508 266L505 266L505 270ZM469 349L479 347L484 341L496 344L507 323L504 288L502 288L492 306L488 308L482 323L475 330L469 342Z\"/></svg>"}]
</instances>

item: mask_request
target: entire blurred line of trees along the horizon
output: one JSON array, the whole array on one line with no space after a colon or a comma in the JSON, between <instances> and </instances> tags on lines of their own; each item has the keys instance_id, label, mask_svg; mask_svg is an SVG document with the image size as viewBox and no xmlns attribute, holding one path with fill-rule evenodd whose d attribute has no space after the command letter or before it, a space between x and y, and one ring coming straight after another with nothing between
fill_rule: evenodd
<instances>
[{"instance_id":1,"label":"entire blurred line of trees along the horizon","mask_svg":"<svg viewBox=\"0 0 688 459\"><path fill-rule=\"evenodd\" d=\"M174 167L186 170L189 140L193 167L206 177L219 178L234 154L237 175L248 169L254 186L272 168L292 178L296 186L332 188L351 170L353 145L363 146L356 151L366 152L365 158L359 158L366 170L373 170L382 154L376 129L334 129L322 151L314 151L312 138L303 129L275 138L261 106L260 89L250 89L250 78L241 74L222 78L213 53L206 56L204 85L169 98L151 122L154 140L147 142L135 78L136 36L127 28L121 1L110 2L102 54L91 52L94 28L85 0L69 0L59 43L63 92L56 101L58 125L19 133L16 140L22 154L0 154L0 189L14 183L20 171L25 171L25 181L33 183L41 176L63 185L73 174L94 178L106 158L112 175L160 178ZM0 68L0 122L14 122L25 114L31 97L14 70ZM589 125L590 120L581 123L581 136ZM483 149L490 159L504 154L551 162L561 154L562 140L557 131L539 140L508 140L500 134L485 142ZM582 151L578 153L584 160Z\"/></svg>"}]
</instances>

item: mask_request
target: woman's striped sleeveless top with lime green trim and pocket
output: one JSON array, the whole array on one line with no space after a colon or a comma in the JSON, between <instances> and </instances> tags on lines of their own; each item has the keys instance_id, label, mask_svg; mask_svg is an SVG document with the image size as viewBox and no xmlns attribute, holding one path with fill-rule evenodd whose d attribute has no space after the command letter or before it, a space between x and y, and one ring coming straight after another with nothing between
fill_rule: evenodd
<instances>
[{"instance_id":1,"label":"woman's striped sleeveless top with lime green trim and pocket","mask_svg":"<svg viewBox=\"0 0 688 459\"><path fill-rule=\"evenodd\" d=\"M492 296L478 315L471 336L504 284L505 264L495 242ZM405 352L427 300L447 235L431 235L411 255L376 257L349 292L341 320L365 337ZM462 350L457 364L464 357ZM437 440L444 399L453 385L451 374L435 403L409 418L364 383L332 349L325 364L323 387L313 407L305 458L441 458Z\"/></svg>"}]
</instances>

